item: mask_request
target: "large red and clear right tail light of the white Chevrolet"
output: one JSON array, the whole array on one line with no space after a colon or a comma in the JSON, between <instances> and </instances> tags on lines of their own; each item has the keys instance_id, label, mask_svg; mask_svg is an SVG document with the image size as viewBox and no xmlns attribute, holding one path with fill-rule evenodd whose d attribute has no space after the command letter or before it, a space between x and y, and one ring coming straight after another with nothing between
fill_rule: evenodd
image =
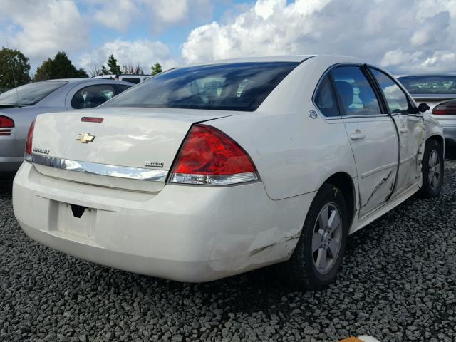
<instances>
[{"instance_id":1,"label":"large red and clear right tail light of the white Chevrolet","mask_svg":"<svg viewBox=\"0 0 456 342\"><path fill-rule=\"evenodd\" d=\"M232 138L209 125L194 125L177 154L170 182L230 185L258 180L247 152Z\"/></svg>"}]
</instances>

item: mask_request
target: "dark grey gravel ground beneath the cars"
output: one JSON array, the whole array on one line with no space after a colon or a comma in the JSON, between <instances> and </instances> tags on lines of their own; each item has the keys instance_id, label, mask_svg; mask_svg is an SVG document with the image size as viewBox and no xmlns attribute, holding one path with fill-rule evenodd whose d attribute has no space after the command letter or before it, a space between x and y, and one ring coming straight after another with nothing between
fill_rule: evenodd
<instances>
[{"instance_id":1,"label":"dark grey gravel ground beneath the cars","mask_svg":"<svg viewBox=\"0 0 456 342\"><path fill-rule=\"evenodd\" d=\"M180 284L28 239L0 183L0 341L456 341L456 162L437 199L408 199L351 236L336 284L292 291L270 271Z\"/></svg>"}]
</instances>

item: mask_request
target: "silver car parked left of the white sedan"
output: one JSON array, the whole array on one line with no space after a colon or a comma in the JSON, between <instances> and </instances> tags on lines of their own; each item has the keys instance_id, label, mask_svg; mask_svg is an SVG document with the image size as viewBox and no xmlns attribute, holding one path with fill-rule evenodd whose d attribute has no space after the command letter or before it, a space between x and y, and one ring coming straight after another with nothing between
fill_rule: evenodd
<instances>
[{"instance_id":1,"label":"silver car parked left of the white sedan","mask_svg":"<svg viewBox=\"0 0 456 342\"><path fill-rule=\"evenodd\" d=\"M133 83L68 78L28 83L0 94L0 174L16 172L24 161L28 128L36 115L93 108Z\"/></svg>"}]
</instances>

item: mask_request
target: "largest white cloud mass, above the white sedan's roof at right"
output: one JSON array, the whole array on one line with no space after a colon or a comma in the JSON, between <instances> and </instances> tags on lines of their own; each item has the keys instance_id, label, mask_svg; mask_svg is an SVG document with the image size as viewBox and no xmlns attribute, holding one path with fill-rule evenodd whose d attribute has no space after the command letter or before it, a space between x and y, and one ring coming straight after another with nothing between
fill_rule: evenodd
<instances>
[{"instance_id":1,"label":"largest white cloud mass, above the white sedan's roof at right","mask_svg":"<svg viewBox=\"0 0 456 342\"><path fill-rule=\"evenodd\" d=\"M331 53L393 72L455 71L456 0L257 0L223 23L195 28L187 62Z\"/></svg>"}]
</instances>

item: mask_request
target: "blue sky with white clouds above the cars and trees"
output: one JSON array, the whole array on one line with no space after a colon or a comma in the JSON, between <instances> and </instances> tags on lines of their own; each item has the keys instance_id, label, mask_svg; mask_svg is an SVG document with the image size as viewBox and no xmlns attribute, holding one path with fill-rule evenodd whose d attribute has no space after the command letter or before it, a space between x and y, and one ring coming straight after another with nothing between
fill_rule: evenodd
<instances>
[{"instance_id":1,"label":"blue sky with white clouds above the cars and trees","mask_svg":"<svg viewBox=\"0 0 456 342\"><path fill-rule=\"evenodd\" d=\"M395 74L456 72L456 0L0 0L0 46L31 73L65 51L120 64L341 54Z\"/></svg>"}]
</instances>

